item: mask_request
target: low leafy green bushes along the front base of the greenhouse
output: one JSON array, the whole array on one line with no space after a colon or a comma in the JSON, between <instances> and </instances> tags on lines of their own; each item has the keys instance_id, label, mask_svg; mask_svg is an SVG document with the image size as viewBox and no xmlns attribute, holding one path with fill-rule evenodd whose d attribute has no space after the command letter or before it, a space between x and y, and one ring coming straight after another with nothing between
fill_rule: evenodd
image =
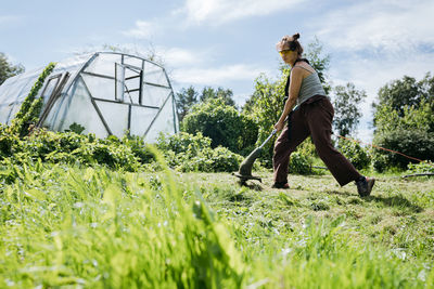
<instances>
[{"instance_id":1,"label":"low leafy green bushes along the front base of the greenhouse","mask_svg":"<svg viewBox=\"0 0 434 289\"><path fill-rule=\"evenodd\" d=\"M0 135L1 159L11 158L16 163L41 159L53 163L103 165L128 171L136 171L141 165L131 147L116 136L101 140L94 134L35 130L31 135L20 139L5 126L0 126Z\"/></svg>"}]
</instances>

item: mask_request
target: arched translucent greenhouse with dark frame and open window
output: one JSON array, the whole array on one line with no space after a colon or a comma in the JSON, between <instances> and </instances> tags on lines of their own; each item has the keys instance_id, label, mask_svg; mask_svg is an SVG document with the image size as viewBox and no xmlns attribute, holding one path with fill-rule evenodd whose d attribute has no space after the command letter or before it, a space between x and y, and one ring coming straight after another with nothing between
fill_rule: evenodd
<instances>
[{"instance_id":1,"label":"arched translucent greenhouse with dark frame and open window","mask_svg":"<svg viewBox=\"0 0 434 289\"><path fill-rule=\"evenodd\" d=\"M10 124L43 68L0 86L0 122ZM95 52L56 63L38 92L43 107L37 127L72 124L98 137L139 135L154 142L179 131L174 91L161 65L130 54Z\"/></svg>"}]
</instances>

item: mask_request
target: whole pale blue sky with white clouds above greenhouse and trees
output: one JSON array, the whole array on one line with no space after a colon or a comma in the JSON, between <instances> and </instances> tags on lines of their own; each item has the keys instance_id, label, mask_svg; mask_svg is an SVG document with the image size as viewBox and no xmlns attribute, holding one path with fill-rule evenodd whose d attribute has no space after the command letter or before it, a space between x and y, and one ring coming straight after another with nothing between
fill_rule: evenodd
<instances>
[{"instance_id":1,"label":"whole pale blue sky with white clouds above greenhouse and trees","mask_svg":"<svg viewBox=\"0 0 434 289\"><path fill-rule=\"evenodd\" d=\"M108 45L153 52L175 93L222 87L239 106L260 74L279 77L276 43L284 35L299 32L305 48L318 39L331 56L331 84L353 82L368 95L357 134L365 142L381 87L434 74L433 0L1 0L0 6L0 52L26 70Z\"/></svg>"}]
</instances>

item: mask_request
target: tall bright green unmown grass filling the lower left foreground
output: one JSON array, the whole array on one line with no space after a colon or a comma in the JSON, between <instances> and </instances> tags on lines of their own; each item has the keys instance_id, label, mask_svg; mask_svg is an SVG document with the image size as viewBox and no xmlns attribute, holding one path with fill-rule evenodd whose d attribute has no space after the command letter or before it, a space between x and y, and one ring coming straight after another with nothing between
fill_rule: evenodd
<instances>
[{"instance_id":1,"label":"tall bright green unmown grass filling the lower left foreground","mask_svg":"<svg viewBox=\"0 0 434 289\"><path fill-rule=\"evenodd\" d=\"M241 287L226 228L167 169L4 169L18 178L1 193L0 287Z\"/></svg>"}]
</instances>

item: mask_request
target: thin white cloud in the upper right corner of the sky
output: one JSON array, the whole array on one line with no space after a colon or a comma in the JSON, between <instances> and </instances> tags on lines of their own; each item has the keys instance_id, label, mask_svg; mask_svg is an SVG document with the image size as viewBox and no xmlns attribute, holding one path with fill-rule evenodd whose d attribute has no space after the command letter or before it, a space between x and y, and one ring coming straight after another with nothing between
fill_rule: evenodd
<instances>
[{"instance_id":1,"label":"thin white cloud in the upper right corner of the sky","mask_svg":"<svg viewBox=\"0 0 434 289\"><path fill-rule=\"evenodd\" d=\"M371 0L333 9L310 26L336 49L401 53L434 43L433 15L431 0Z\"/></svg>"}]
</instances>

